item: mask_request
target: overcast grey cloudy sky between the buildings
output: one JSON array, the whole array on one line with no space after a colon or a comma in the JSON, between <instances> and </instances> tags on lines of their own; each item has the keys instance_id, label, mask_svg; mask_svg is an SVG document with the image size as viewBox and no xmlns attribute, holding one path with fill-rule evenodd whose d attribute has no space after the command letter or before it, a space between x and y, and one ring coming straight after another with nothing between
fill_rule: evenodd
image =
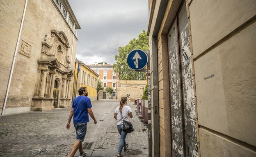
<instances>
[{"instance_id":1,"label":"overcast grey cloudy sky between the buildings","mask_svg":"<svg viewBox=\"0 0 256 157\"><path fill-rule=\"evenodd\" d=\"M148 27L148 0L69 0L81 27L76 58L115 63L118 47Z\"/></svg>"}]
</instances>

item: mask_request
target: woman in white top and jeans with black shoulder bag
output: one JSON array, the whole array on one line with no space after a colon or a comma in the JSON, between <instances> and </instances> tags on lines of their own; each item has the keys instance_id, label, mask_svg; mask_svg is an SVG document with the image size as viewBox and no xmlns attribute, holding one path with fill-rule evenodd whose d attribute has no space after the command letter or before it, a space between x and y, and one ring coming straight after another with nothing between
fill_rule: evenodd
<instances>
[{"instance_id":1,"label":"woman in white top and jeans with black shoulder bag","mask_svg":"<svg viewBox=\"0 0 256 157\"><path fill-rule=\"evenodd\" d=\"M117 157L123 156L121 155L123 147L124 147L124 150L128 148L128 144L126 144L126 141L125 141L127 132L123 131L123 120L130 121L130 118L133 118L133 114L130 106L127 106L126 104L127 104L127 98L121 97L120 105L116 108L114 112L114 119L117 120L117 130L121 136L119 141L119 146L118 146Z\"/></svg>"}]
</instances>

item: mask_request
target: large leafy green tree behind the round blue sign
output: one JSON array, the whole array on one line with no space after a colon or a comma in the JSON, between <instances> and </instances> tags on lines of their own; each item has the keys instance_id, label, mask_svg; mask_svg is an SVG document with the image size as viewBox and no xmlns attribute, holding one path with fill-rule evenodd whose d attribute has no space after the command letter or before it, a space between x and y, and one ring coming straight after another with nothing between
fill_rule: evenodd
<instances>
[{"instance_id":1,"label":"large leafy green tree behind the round blue sign","mask_svg":"<svg viewBox=\"0 0 256 157\"><path fill-rule=\"evenodd\" d=\"M118 55L115 55L116 63L113 64L114 70L118 73L120 80L145 80L146 72L135 72L127 65L127 56L133 49L149 49L149 37L145 30L138 35L138 39L133 38L128 45L118 48Z\"/></svg>"}]
</instances>

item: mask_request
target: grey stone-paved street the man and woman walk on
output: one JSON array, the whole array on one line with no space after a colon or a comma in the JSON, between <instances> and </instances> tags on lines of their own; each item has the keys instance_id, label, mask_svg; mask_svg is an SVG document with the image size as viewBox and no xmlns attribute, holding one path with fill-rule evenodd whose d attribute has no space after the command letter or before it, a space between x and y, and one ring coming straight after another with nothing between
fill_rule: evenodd
<instances>
[{"instance_id":1,"label":"grey stone-paved street the man and woman walk on","mask_svg":"<svg viewBox=\"0 0 256 157\"><path fill-rule=\"evenodd\" d=\"M84 149L87 156L116 157L119 133L113 118L117 101L94 101L93 111L98 121L87 125ZM135 105L128 104L133 110L132 123L135 131L128 134L129 148L123 157L148 156L148 131L136 116ZM69 108L46 112L27 112L0 117L0 156L17 157L66 157L75 141L75 129L66 129ZM146 128L146 131L144 131ZM142 155L130 155L131 150L141 150ZM78 156L78 154L77 154Z\"/></svg>"}]
</instances>

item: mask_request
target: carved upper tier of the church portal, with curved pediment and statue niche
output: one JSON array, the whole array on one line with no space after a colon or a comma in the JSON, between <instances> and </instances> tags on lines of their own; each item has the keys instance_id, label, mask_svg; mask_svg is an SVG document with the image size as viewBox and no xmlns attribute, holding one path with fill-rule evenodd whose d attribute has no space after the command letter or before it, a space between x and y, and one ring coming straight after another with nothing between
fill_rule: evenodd
<instances>
[{"instance_id":1,"label":"carved upper tier of the church portal, with curved pediment and statue niche","mask_svg":"<svg viewBox=\"0 0 256 157\"><path fill-rule=\"evenodd\" d=\"M68 54L69 48L69 41L64 32L52 30L50 37L48 37L48 34L45 35L41 53L46 58L56 58L59 63L69 67L71 63Z\"/></svg>"}]
</instances>

